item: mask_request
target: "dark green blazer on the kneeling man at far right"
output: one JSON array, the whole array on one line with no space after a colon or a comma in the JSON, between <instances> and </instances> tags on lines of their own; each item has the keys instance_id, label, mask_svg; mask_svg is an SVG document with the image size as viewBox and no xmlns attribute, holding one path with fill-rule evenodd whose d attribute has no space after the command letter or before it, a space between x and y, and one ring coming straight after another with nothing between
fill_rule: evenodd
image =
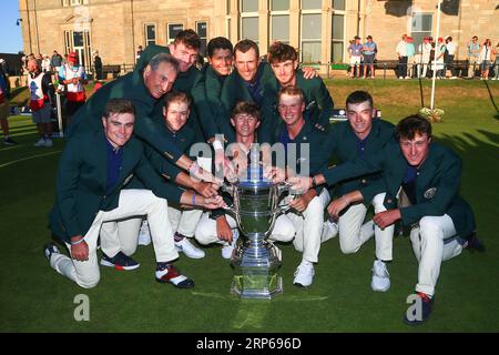
<instances>
[{"instance_id":1,"label":"dark green blazer on the kneeling man at far right","mask_svg":"<svg viewBox=\"0 0 499 355\"><path fill-rule=\"evenodd\" d=\"M383 151L368 159L349 161L324 172L327 184L383 171L386 184L386 209L397 207L396 196L403 184L407 161L398 143L387 144ZM417 172L416 204L400 209L405 225L418 222L427 215L448 214L456 232L469 237L476 229L475 215L470 205L459 195L461 180L461 159L448 148L430 143L428 156Z\"/></svg>"}]
</instances>

